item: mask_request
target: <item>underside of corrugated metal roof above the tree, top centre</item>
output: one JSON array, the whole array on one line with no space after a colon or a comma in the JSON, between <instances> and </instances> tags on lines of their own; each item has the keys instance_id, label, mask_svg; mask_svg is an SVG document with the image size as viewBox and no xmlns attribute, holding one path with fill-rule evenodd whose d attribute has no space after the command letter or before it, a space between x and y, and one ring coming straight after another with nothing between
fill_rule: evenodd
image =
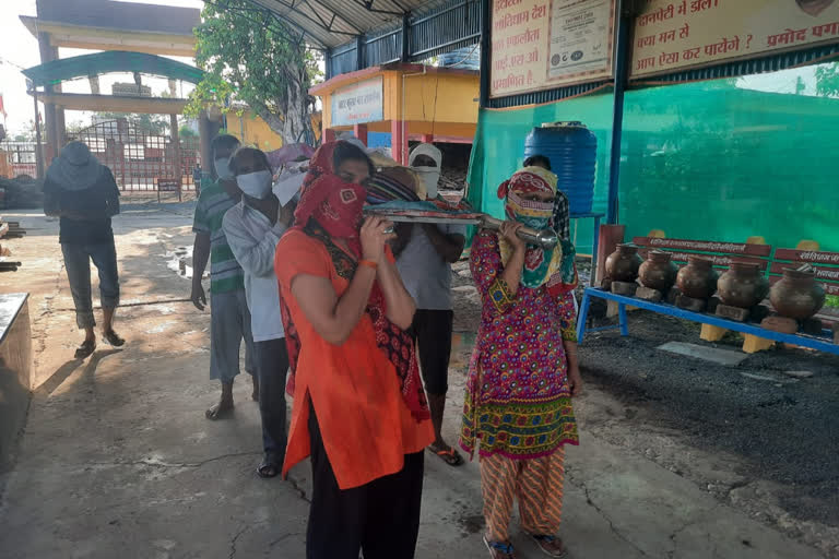
<instances>
[{"instance_id":1,"label":"underside of corrugated metal roof above the tree, top centre","mask_svg":"<svg viewBox=\"0 0 839 559\"><path fill-rule=\"evenodd\" d=\"M271 10L322 48L334 48L429 10L445 0L249 0Z\"/></svg>"}]
</instances>

